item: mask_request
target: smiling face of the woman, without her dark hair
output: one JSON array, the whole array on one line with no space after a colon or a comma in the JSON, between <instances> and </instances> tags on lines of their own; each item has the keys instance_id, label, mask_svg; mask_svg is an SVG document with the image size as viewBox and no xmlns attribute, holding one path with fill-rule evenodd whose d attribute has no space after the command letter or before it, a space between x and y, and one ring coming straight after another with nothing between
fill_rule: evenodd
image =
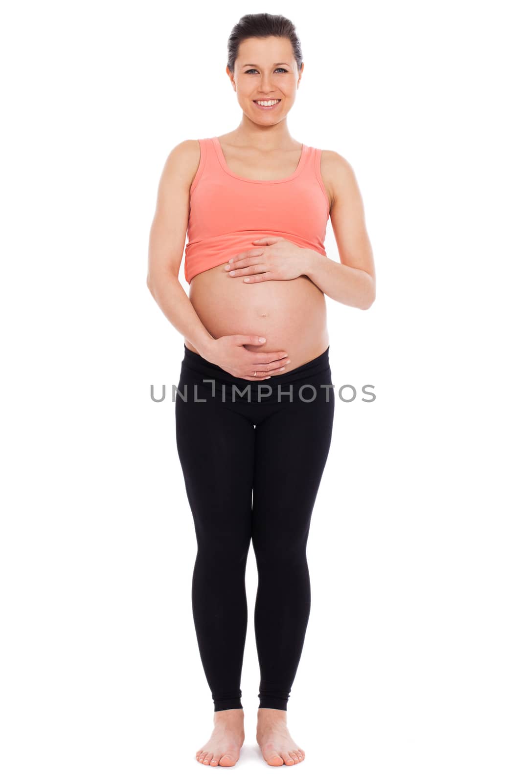
<instances>
[{"instance_id":1,"label":"smiling face of the woman, without her dark hair","mask_svg":"<svg viewBox=\"0 0 522 782\"><path fill-rule=\"evenodd\" d=\"M227 67L239 106L257 124L273 125L293 106L301 75L288 38L247 38L239 44L234 73ZM263 108L256 101L277 100Z\"/></svg>"}]
</instances>

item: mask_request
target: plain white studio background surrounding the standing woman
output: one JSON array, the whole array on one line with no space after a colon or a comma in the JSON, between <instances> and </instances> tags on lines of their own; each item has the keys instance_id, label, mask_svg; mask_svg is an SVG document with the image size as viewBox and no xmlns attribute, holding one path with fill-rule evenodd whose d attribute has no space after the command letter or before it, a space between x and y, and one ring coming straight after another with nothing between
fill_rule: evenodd
<instances>
[{"instance_id":1,"label":"plain white studio background surrounding the standing woman","mask_svg":"<svg viewBox=\"0 0 522 782\"><path fill-rule=\"evenodd\" d=\"M376 302L328 300L338 401L287 713L301 778L519 782L520 50L507 2L46 2L2 33L2 766L6 782L212 776L183 339L146 288L157 184L231 131L243 13L296 24L300 142L354 167ZM338 260L331 225L326 250ZM182 272L180 273L182 278ZM182 279L184 285L185 281ZM247 567L247 738L255 742ZM220 769L217 773L223 773ZM198 776L199 778L199 776Z\"/></svg>"}]
</instances>

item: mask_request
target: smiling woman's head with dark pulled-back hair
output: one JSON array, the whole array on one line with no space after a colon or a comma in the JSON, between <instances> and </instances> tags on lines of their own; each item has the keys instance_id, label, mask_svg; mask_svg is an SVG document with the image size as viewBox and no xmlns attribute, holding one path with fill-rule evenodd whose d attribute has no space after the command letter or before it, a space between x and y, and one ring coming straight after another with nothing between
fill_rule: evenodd
<instances>
[{"instance_id":1,"label":"smiling woman's head with dark pulled-back hair","mask_svg":"<svg viewBox=\"0 0 522 782\"><path fill-rule=\"evenodd\" d=\"M295 101L303 73L301 41L285 16L249 13L229 36L227 73L239 106L258 124L283 120ZM257 101L278 102L261 108Z\"/></svg>"}]
</instances>

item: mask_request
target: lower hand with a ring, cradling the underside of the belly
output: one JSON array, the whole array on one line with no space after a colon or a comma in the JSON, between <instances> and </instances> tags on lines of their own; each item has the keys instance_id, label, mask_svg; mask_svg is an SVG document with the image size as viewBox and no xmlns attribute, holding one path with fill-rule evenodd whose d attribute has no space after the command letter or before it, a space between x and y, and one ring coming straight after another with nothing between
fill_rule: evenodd
<instances>
[{"instance_id":1,"label":"lower hand with a ring, cradling the underside of the belly","mask_svg":"<svg viewBox=\"0 0 522 782\"><path fill-rule=\"evenodd\" d=\"M206 350L203 358L211 364L229 372L235 378L243 380L266 380L272 372L282 374L280 369L289 364L286 350L271 350L265 353L257 353L247 350L245 345L262 345L261 337L247 334L232 334L218 337ZM254 376L254 372L256 375Z\"/></svg>"}]
</instances>

